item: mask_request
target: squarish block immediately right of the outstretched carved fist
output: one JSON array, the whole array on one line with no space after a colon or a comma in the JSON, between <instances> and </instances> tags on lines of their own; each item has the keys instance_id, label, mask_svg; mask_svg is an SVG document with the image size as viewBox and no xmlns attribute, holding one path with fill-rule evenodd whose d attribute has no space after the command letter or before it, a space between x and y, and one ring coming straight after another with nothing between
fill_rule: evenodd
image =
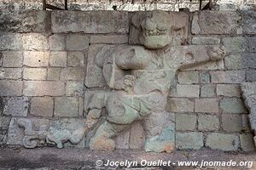
<instances>
[{"instance_id":1,"label":"squarish block immediately right of the outstretched carved fist","mask_svg":"<svg viewBox=\"0 0 256 170\"><path fill-rule=\"evenodd\" d=\"M224 37L223 44L228 54L241 53L244 48L244 37Z\"/></svg>"}]
</instances>

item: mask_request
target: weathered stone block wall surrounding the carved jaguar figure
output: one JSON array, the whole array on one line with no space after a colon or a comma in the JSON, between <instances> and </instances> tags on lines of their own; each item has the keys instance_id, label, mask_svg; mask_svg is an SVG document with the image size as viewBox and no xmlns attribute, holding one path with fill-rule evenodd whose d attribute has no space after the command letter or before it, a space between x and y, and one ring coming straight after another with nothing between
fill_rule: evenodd
<instances>
[{"instance_id":1,"label":"weathered stone block wall surrounding the carved jaguar figure","mask_svg":"<svg viewBox=\"0 0 256 170\"><path fill-rule=\"evenodd\" d=\"M63 127L71 129L69 136L72 128L83 128L90 95L107 89L94 58L102 47L129 42L132 14L0 12L1 146L26 145L32 138L39 141L27 147L46 145L46 129L58 123L72 122L73 127ZM177 150L255 150L240 88L241 82L256 81L255 14L186 14L186 43L223 44L224 59L178 71L166 111L153 115L150 126L133 123L115 138L116 148L143 150L148 128L158 133L172 124ZM83 148L85 140L67 141L64 147Z\"/></svg>"}]
</instances>

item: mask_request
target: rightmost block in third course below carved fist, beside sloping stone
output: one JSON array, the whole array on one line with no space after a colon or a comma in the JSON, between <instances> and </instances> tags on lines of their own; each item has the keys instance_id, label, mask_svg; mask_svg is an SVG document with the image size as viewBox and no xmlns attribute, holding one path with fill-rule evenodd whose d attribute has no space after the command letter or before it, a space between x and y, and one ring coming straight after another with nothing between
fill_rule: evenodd
<instances>
[{"instance_id":1,"label":"rightmost block in third course below carved fist, beside sloping stone","mask_svg":"<svg viewBox=\"0 0 256 170\"><path fill-rule=\"evenodd\" d=\"M224 98L220 100L220 109L224 113L247 113L244 104L241 99L236 98Z\"/></svg>"}]
</instances>

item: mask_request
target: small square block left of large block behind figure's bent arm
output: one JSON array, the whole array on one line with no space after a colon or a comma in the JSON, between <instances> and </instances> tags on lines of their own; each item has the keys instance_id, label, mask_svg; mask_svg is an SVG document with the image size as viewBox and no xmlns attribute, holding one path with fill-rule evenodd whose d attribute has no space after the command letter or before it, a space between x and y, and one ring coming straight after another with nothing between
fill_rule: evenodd
<instances>
[{"instance_id":1,"label":"small square block left of large block behind figure's bent arm","mask_svg":"<svg viewBox=\"0 0 256 170\"><path fill-rule=\"evenodd\" d=\"M84 66L84 53L82 52L68 52L67 53L67 66Z\"/></svg>"}]
</instances>

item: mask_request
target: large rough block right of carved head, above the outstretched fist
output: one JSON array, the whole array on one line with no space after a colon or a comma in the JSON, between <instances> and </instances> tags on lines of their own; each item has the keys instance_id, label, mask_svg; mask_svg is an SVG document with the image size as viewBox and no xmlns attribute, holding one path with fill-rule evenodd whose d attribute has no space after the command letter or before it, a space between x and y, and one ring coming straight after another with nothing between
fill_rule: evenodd
<instances>
[{"instance_id":1,"label":"large rough block right of carved head, above the outstretched fist","mask_svg":"<svg viewBox=\"0 0 256 170\"><path fill-rule=\"evenodd\" d=\"M241 17L235 11L201 11L193 15L192 34L236 34Z\"/></svg>"}]
</instances>

